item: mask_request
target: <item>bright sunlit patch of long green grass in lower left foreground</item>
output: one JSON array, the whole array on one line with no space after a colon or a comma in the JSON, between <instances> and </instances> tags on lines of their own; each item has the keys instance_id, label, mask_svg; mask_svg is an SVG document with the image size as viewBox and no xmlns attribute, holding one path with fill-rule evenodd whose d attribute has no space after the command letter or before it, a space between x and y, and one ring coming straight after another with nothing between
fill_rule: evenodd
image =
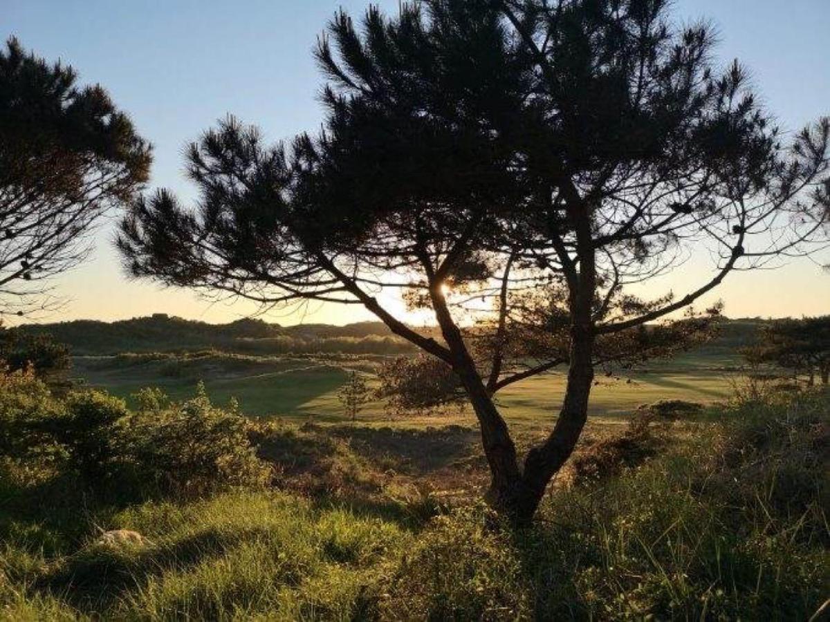
<instances>
[{"instance_id":1,"label":"bright sunlit patch of long green grass in lower left foreground","mask_svg":"<svg viewBox=\"0 0 830 622\"><path fill-rule=\"evenodd\" d=\"M393 522L277 492L144 503L110 513L106 527L139 531L152 544L95 545L92 522L59 556L7 544L14 552L0 568L17 588L2 599L0 617L349 620L361 586L412 540Z\"/></svg>"}]
</instances>

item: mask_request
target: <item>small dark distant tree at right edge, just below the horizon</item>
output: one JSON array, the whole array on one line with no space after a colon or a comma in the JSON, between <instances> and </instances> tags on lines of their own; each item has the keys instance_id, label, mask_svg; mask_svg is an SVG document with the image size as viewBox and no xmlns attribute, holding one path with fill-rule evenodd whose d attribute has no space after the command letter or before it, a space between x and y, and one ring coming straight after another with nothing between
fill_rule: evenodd
<instances>
[{"instance_id":1,"label":"small dark distant tree at right edge, just below the horizon","mask_svg":"<svg viewBox=\"0 0 830 622\"><path fill-rule=\"evenodd\" d=\"M830 315L818 318L779 319L765 324L744 356L753 363L772 363L806 374L808 385L815 377L830 383Z\"/></svg>"}]
</instances>

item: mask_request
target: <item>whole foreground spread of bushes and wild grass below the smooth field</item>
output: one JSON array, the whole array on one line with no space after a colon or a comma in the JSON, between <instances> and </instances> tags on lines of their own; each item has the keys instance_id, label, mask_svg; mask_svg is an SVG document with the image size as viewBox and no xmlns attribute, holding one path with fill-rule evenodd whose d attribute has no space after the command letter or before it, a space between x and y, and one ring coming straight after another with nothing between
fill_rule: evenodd
<instances>
[{"instance_id":1,"label":"whole foreground spread of bushes and wild grass below the smooth field","mask_svg":"<svg viewBox=\"0 0 830 622\"><path fill-rule=\"evenodd\" d=\"M830 585L830 396L762 384L591 428L514 528L448 493L486 484L470 429L251 421L203 392L129 410L6 372L0 617L806 620Z\"/></svg>"}]
</instances>

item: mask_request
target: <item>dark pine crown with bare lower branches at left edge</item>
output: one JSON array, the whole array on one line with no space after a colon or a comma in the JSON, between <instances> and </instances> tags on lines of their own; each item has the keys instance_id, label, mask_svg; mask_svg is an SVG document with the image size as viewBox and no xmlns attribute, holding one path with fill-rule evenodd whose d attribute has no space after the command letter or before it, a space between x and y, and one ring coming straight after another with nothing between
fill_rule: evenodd
<instances>
[{"instance_id":1,"label":"dark pine crown with bare lower branches at left edge","mask_svg":"<svg viewBox=\"0 0 830 622\"><path fill-rule=\"evenodd\" d=\"M149 146L100 86L0 49L0 313L46 304L46 279L83 260L88 234L146 181Z\"/></svg>"}]
</instances>

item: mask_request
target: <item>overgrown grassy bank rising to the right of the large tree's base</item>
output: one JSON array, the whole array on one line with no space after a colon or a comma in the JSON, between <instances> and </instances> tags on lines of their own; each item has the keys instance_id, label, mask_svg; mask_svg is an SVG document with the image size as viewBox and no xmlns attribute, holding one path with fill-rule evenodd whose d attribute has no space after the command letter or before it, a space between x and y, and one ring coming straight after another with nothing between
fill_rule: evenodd
<instances>
[{"instance_id":1,"label":"overgrown grassy bank rising to the right of the large tree's base","mask_svg":"<svg viewBox=\"0 0 830 622\"><path fill-rule=\"evenodd\" d=\"M736 402L678 424L696 434L645 464L554 489L535 527L507 537L481 510L440 518L381 588L388 611L808 619L830 580L828 417L827 394Z\"/></svg>"}]
</instances>

